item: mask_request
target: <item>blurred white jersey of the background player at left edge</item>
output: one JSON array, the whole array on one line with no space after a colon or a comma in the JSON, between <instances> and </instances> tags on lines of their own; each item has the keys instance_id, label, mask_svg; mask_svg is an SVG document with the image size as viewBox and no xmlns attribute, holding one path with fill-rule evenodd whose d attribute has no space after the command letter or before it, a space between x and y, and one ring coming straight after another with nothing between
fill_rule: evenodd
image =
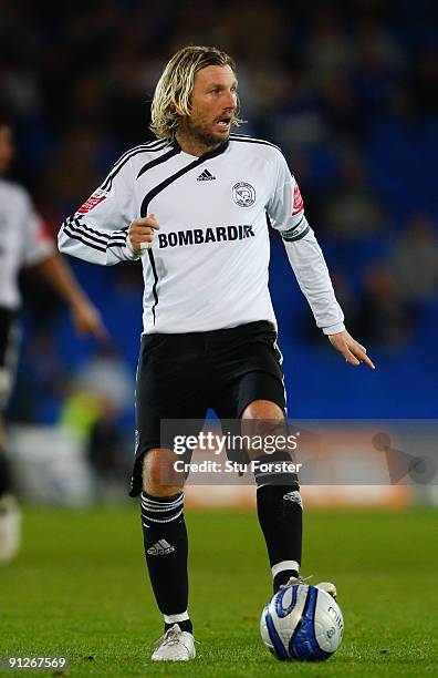
<instances>
[{"instance_id":1,"label":"blurred white jersey of the background player at left edge","mask_svg":"<svg viewBox=\"0 0 438 678\"><path fill-rule=\"evenodd\" d=\"M0 179L0 306L20 306L20 268L39 264L53 251L27 191Z\"/></svg>"}]
</instances>

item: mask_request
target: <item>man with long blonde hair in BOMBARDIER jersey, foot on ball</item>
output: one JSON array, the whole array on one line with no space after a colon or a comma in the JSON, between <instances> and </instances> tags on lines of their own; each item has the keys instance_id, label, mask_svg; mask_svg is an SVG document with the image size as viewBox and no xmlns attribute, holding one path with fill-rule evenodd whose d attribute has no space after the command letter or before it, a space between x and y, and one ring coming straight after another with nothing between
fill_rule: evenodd
<instances>
[{"instance_id":1,"label":"man with long blonde hair in BOMBARDIER jersey, foot on ball","mask_svg":"<svg viewBox=\"0 0 438 678\"><path fill-rule=\"evenodd\" d=\"M234 63L225 52L204 47L177 52L155 90L157 141L125 153L59 236L62 251L96 264L142 258L144 331L131 494L142 494L145 555L165 623L154 660L196 654L182 481L171 474L173 440L160 422L204 421L212 408L220 420L251 424L262 435L285 425L268 289L269 226L283 239L316 325L347 362L374 367L345 330L282 153L269 142L231 133L241 122L237 88ZM258 461L251 445L247 453ZM300 581L302 501L296 475L282 466L290 459L278 449L268 471L254 470L274 592ZM334 585L321 586L335 595Z\"/></svg>"}]
</instances>

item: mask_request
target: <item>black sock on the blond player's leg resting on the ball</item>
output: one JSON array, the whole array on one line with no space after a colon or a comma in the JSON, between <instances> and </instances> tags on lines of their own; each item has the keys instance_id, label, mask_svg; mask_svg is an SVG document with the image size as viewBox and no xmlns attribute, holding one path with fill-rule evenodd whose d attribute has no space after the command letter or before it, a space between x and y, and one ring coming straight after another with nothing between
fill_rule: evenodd
<instances>
[{"instance_id":1,"label":"black sock on the blond player's leg resting on the ball","mask_svg":"<svg viewBox=\"0 0 438 678\"><path fill-rule=\"evenodd\" d=\"M262 485L257 490L257 512L267 542L271 567L294 562L296 567L281 568L275 573L273 589L298 576L301 563L303 508L300 491L291 485Z\"/></svg>"}]
</instances>

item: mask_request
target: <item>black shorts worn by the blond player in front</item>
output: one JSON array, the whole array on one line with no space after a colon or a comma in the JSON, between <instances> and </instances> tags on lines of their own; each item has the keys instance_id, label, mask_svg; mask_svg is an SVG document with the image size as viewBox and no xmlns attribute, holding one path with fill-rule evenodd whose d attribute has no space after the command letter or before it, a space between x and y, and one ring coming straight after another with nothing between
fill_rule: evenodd
<instances>
[{"instance_id":1,"label":"black shorts worn by the blond player in front","mask_svg":"<svg viewBox=\"0 0 438 678\"><path fill-rule=\"evenodd\" d=\"M239 419L253 400L285 411L277 331L265 321L181 335L146 335L137 370L136 453L131 496L142 491L142 459L161 448L163 419Z\"/></svg>"}]
</instances>

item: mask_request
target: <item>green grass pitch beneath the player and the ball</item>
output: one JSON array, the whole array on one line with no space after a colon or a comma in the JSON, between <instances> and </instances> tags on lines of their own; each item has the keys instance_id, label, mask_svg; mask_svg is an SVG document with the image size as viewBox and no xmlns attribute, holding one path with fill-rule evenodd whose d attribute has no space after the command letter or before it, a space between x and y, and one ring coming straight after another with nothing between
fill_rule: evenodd
<instances>
[{"instance_id":1,"label":"green grass pitch beneath the player and the ball","mask_svg":"<svg viewBox=\"0 0 438 678\"><path fill-rule=\"evenodd\" d=\"M426 510L306 514L303 574L336 582L345 619L336 655L310 665L279 662L261 644L271 582L253 513L187 511L198 657L156 665L148 658L161 622L137 507L27 510L22 552L0 571L0 656L70 656L58 674L67 676L438 675L437 518Z\"/></svg>"}]
</instances>

